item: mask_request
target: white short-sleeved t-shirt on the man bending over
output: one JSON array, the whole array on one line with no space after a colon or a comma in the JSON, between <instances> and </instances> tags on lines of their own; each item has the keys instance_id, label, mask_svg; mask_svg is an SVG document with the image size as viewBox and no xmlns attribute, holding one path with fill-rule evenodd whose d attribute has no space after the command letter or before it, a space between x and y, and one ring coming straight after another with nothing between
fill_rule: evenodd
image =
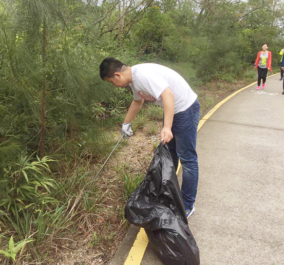
<instances>
[{"instance_id":1,"label":"white short-sleeved t-shirt on the man bending over","mask_svg":"<svg viewBox=\"0 0 284 265\"><path fill-rule=\"evenodd\" d=\"M135 100L153 101L163 108L161 93L169 88L174 93L175 114L186 110L197 99L197 94L174 70L159 64L138 64L131 67L130 87Z\"/></svg>"}]
</instances>

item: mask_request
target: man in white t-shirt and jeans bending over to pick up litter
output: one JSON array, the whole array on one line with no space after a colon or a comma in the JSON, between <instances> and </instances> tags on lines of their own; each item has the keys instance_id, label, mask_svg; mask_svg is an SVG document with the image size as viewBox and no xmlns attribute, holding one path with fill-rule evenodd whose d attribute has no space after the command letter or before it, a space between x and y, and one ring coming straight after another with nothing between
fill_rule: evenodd
<instances>
[{"instance_id":1,"label":"man in white t-shirt and jeans bending over to pick up litter","mask_svg":"<svg viewBox=\"0 0 284 265\"><path fill-rule=\"evenodd\" d=\"M132 101L122 124L122 133L130 137L130 122L144 100L153 101L164 109L161 141L168 144L175 168L182 165L181 194L187 218L195 209L198 184L196 153L197 126L200 107L196 93L174 70L159 64L138 64L129 67L115 58L105 58L100 65L100 77L116 87L129 85Z\"/></svg>"}]
</instances>

